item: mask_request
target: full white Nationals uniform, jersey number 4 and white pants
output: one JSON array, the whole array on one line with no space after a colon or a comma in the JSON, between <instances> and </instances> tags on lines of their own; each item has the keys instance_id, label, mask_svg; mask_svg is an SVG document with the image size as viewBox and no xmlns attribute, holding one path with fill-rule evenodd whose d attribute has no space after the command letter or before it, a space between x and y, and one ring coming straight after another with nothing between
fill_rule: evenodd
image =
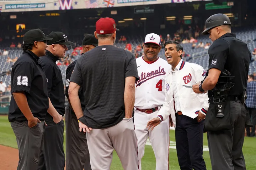
<instances>
[{"instance_id":1,"label":"full white Nationals uniform, jersey number 4 and white pants","mask_svg":"<svg viewBox=\"0 0 256 170\"><path fill-rule=\"evenodd\" d=\"M156 170L167 170L169 168L169 119L162 121L153 131L148 130L146 125L149 120L159 115L160 106L164 104L164 82L171 65L162 58L148 64L143 60L143 57L140 57L136 59L136 62L140 79L135 82L134 125L138 139L139 169L142 169L141 160L144 155L146 140L149 138L156 158ZM139 109L158 107L158 110L147 114L138 111L136 107Z\"/></svg>"}]
</instances>

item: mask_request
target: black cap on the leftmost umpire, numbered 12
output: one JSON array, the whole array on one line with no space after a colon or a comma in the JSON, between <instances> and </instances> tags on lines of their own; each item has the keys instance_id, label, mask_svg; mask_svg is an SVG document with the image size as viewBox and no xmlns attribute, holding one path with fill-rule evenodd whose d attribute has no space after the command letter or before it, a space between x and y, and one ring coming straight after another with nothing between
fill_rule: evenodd
<instances>
[{"instance_id":1,"label":"black cap on the leftmost umpire, numbered 12","mask_svg":"<svg viewBox=\"0 0 256 170\"><path fill-rule=\"evenodd\" d=\"M52 38L46 37L41 29L29 30L23 36L23 44L31 43L34 41L49 41L49 40L52 40Z\"/></svg>"}]
</instances>

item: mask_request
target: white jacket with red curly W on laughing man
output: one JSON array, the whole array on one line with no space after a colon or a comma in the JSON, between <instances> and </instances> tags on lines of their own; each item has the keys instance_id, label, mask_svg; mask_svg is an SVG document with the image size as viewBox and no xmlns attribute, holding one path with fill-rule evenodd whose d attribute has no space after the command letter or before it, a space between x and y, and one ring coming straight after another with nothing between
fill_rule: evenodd
<instances>
[{"instance_id":1,"label":"white jacket with red curly W on laughing man","mask_svg":"<svg viewBox=\"0 0 256 170\"><path fill-rule=\"evenodd\" d=\"M206 114L209 107L207 93L195 94L192 88L183 86L192 86L193 84L200 83L204 79L206 71L198 64L184 62L183 60L180 61L176 68L179 68L179 70L175 72L175 75L177 94L182 114L192 119L197 117L198 111ZM160 109L158 117L163 121L171 115L172 122L175 125L175 101L173 97L172 79L172 71L170 70L165 78L165 103Z\"/></svg>"}]
</instances>

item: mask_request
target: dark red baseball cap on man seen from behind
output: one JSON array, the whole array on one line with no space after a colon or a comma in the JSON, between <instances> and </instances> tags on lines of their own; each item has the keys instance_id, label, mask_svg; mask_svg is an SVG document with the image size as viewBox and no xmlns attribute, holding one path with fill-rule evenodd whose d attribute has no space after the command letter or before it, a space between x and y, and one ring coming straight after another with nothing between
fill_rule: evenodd
<instances>
[{"instance_id":1,"label":"dark red baseball cap on man seen from behind","mask_svg":"<svg viewBox=\"0 0 256 170\"><path fill-rule=\"evenodd\" d=\"M113 18L100 18L96 22L96 33L97 34L112 34L115 31L119 31L119 29L116 28L116 22Z\"/></svg>"}]
</instances>

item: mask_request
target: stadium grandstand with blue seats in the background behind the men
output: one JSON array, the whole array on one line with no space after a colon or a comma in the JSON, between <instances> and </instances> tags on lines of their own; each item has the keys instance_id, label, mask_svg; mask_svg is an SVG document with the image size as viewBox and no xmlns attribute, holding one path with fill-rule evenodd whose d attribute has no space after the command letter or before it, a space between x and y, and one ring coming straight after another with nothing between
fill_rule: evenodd
<instances>
[{"instance_id":1,"label":"stadium grandstand with blue seats in the background behind the men","mask_svg":"<svg viewBox=\"0 0 256 170\"><path fill-rule=\"evenodd\" d=\"M11 84L10 73L14 63L7 60L19 57L22 49L10 45L22 43L22 36L28 30L39 28L46 35L52 31L65 33L74 42L66 52L66 56L71 58L70 62L73 62L81 54L77 47L81 46L84 35L94 33L95 23L100 17L115 19L120 29L115 46L124 49L127 42L132 45L134 52L149 33L162 35L165 40L167 34L174 39L177 33L182 41L191 36L195 38L197 32L196 44L206 44L210 42L209 37L200 35L206 19L215 13L225 13L230 17L232 32L246 42L252 52L256 48L255 4L250 0L0 0L0 81L7 87ZM121 36L125 36L127 41L118 41ZM182 44L189 55L184 60L197 63L207 70L208 49L192 48L192 44ZM4 49L8 51L8 56L1 55ZM78 55L73 57L74 50ZM138 57L142 56L142 52ZM159 57L166 60L163 48ZM256 72L256 61L254 56L252 58L249 74ZM68 66L62 64L59 67L65 86ZM4 100L1 96L0 102L9 101L10 94L7 95L9 98Z\"/></svg>"}]
</instances>

